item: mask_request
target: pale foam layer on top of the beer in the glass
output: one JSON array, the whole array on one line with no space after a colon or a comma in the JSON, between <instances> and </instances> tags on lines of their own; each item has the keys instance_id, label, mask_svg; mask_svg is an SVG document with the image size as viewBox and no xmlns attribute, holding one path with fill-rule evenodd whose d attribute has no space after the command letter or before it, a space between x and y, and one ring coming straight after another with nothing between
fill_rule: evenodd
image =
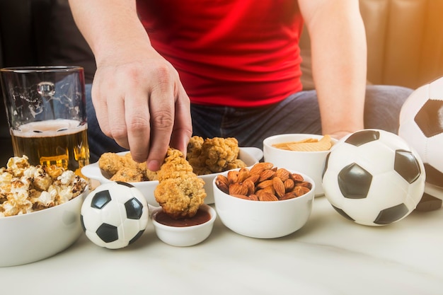
<instances>
[{"instance_id":1,"label":"pale foam layer on top of the beer in the glass","mask_svg":"<svg viewBox=\"0 0 443 295\"><path fill-rule=\"evenodd\" d=\"M60 135L73 134L88 128L85 123L81 125L79 120L47 120L30 122L20 126L19 130L12 130L16 137L57 137Z\"/></svg>"}]
</instances>

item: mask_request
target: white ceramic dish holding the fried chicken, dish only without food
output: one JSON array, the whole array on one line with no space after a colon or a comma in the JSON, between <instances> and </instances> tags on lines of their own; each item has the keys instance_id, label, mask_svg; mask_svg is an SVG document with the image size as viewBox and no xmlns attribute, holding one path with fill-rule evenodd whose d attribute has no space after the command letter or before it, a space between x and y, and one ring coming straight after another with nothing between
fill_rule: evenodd
<instances>
[{"instance_id":1,"label":"white ceramic dish holding the fried chicken, dish only without food","mask_svg":"<svg viewBox=\"0 0 443 295\"><path fill-rule=\"evenodd\" d=\"M118 153L119 155L127 154L127 151L124 151L122 153ZM246 166L253 166L255 163L258 163L258 161L263 157L263 152L255 147L241 147L240 152L238 153L238 158L240 158L243 162L246 163ZM103 174L100 171L100 168L98 167L98 163L92 163L90 165L84 166L84 168L81 169L81 173L85 175L87 178L91 178L93 180L98 180L100 184L103 183L110 183L111 180L108 178L105 178ZM205 180L205 191L206 191L206 198L205 198L205 204L212 204L214 203L214 195L212 194L212 180L218 175L219 173L213 173L213 174L207 174L207 175L200 175L199 178L202 178L202 180ZM146 198L146 201L148 204L159 207L159 203L156 201L156 198L154 197L154 190L156 186L159 184L158 181L142 181L139 183L131 183L134 185L134 187L137 187Z\"/></svg>"}]
</instances>

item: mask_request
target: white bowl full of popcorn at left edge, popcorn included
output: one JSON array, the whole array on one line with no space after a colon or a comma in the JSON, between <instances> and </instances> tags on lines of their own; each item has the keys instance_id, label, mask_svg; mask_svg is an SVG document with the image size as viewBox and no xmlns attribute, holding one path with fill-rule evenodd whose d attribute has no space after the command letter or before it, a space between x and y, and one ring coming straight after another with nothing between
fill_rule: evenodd
<instances>
[{"instance_id":1,"label":"white bowl full of popcorn at left edge, popcorn included","mask_svg":"<svg viewBox=\"0 0 443 295\"><path fill-rule=\"evenodd\" d=\"M0 267L48 258L82 233L86 180L70 170L55 172L52 178L40 166L20 166L17 161L27 159L11 158L7 168L0 169Z\"/></svg>"}]
</instances>

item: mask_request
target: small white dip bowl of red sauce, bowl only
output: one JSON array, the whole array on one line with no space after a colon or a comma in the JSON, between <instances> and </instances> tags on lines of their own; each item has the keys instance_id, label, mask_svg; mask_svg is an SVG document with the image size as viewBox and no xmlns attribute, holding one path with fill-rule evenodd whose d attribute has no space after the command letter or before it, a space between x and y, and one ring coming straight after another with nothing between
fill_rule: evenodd
<instances>
[{"instance_id":1,"label":"small white dip bowl of red sauce, bowl only","mask_svg":"<svg viewBox=\"0 0 443 295\"><path fill-rule=\"evenodd\" d=\"M202 243L211 234L217 212L207 204L202 204L199 210L209 212L210 219L203 224L195 226L167 226L156 221L156 214L162 211L161 207L153 210L151 220L154 224L156 235L161 241L178 247L188 247Z\"/></svg>"}]
</instances>

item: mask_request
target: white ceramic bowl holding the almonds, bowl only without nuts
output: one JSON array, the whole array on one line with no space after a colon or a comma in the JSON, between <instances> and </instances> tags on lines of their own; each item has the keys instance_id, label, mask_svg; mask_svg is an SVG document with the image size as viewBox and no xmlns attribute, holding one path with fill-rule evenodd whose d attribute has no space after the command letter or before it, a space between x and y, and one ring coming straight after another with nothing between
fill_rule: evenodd
<instances>
[{"instance_id":1,"label":"white ceramic bowl holding the almonds, bowl only without nuts","mask_svg":"<svg viewBox=\"0 0 443 295\"><path fill-rule=\"evenodd\" d=\"M299 174L312 184L311 191L293 199L270 202L233 197L222 192L214 180L212 185L217 215L231 231L251 238L280 238L294 233L306 224L311 215L315 190L312 178Z\"/></svg>"}]
</instances>

